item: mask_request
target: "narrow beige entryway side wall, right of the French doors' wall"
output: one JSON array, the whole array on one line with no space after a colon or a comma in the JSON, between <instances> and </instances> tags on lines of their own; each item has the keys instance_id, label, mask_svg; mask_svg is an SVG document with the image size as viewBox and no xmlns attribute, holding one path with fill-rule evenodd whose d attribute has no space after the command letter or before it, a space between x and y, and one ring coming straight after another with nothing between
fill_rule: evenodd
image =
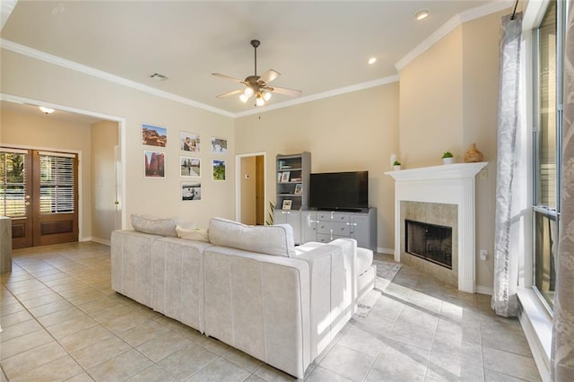
<instances>
[{"instance_id":1,"label":"narrow beige entryway side wall, right of the French doors' wall","mask_svg":"<svg viewBox=\"0 0 574 382\"><path fill-rule=\"evenodd\" d=\"M109 242L116 229L117 122L101 121L91 125L91 238Z\"/></svg>"}]
</instances>

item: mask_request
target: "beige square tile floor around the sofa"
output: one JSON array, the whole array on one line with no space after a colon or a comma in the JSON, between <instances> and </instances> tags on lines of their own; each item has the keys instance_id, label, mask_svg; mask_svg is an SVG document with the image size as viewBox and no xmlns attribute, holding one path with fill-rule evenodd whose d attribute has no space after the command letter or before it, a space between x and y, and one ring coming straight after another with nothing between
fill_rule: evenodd
<instances>
[{"instance_id":1,"label":"beige square tile floor around the sofa","mask_svg":"<svg viewBox=\"0 0 574 382\"><path fill-rule=\"evenodd\" d=\"M381 260L390 256L377 255ZM13 251L3 273L0 380L292 380L110 289L109 247ZM309 381L540 380L516 319L404 265L353 318Z\"/></svg>"}]
</instances>

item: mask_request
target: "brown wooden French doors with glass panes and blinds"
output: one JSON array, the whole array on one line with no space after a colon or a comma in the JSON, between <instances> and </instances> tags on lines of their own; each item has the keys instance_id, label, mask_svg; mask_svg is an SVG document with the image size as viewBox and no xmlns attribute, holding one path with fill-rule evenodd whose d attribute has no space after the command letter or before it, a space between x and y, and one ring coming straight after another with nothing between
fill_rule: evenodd
<instances>
[{"instance_id":1,"label":"brown wooden French doors with glass panes and blinds","mask_svg":"<svg viewBox=\"0 0 574 382\"><path fill-rule=\"evenodd\" d=\"M12 247L78 240L76 154L0 147L0 214Z\"/></svg>"}]
</instances>

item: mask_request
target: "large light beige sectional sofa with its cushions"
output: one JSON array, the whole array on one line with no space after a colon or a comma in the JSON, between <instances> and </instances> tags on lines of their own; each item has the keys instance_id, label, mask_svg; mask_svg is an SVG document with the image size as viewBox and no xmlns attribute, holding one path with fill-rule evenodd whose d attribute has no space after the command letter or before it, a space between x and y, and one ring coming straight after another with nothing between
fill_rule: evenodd
<instances>
[{"instance_id":1,"label":"large light beige sectional sofa with its cushions","mask_svg":"<svg viewBox=\"0 0 574 382\"><path fill-rule=\"evenodd\" d=\"M295 247L288 224L221 218L207 231L141 215L132 225L112 233L114 291L297 378L374 286L372 252L353 239Z\"/></svg>"}]
</instances>

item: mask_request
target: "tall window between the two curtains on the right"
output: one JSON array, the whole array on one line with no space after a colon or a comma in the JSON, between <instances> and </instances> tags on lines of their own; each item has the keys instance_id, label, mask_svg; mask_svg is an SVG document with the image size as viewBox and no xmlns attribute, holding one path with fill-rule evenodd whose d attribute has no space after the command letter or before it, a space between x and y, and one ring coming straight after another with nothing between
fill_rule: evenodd
<instances>
[{"instance_id":1,"label":"tall window between the two curtains on the right","mask_svg":"<svg viewBox=\"0 0 574 382\"><path fill-rule=\"evenodd\" d=\"M561 14L552 1L537 30L537 100L534 131L534 289L552 311L554 256L560 230Z\"/></svg>"}]
</instances>

